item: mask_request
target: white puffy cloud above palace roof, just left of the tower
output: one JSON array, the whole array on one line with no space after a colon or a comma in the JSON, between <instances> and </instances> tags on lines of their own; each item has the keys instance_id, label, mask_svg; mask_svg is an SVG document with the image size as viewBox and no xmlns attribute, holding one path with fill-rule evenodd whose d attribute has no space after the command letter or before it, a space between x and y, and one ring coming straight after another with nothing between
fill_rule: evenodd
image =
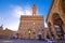
<instances>
[{"instance_id":1,"label":"white puffy cloud above palace roof, just left of the tower","mask_svg":"<svg viewBox=\"0 0 65 43\"><path fill-rule=\"evenodd\" d=\"M25 6L25 9L23 9L22 6L14 6L13 9L13 13L15 14L14 16L20 17L21 15L31 15L31 10L28 6Z\"/></svg>"}]
</instances>

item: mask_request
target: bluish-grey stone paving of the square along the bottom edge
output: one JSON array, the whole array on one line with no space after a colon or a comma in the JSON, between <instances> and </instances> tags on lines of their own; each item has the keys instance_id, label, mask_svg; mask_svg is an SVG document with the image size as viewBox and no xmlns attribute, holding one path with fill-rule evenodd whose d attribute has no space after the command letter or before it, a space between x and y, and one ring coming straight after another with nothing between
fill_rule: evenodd
<instances>
[{"instance_id":1,"label":"bluish-grey stone paving of the square along the bottom edge","mask_svg":"<svg viewBox=\"0 0 65 43\"><path fill-rule=\"evenodd\" d=\"M0 40L0 43L53 43L39 40ZM65 43L65 41L58 41L54 43Z\"/></svg>"}]
</instances>

